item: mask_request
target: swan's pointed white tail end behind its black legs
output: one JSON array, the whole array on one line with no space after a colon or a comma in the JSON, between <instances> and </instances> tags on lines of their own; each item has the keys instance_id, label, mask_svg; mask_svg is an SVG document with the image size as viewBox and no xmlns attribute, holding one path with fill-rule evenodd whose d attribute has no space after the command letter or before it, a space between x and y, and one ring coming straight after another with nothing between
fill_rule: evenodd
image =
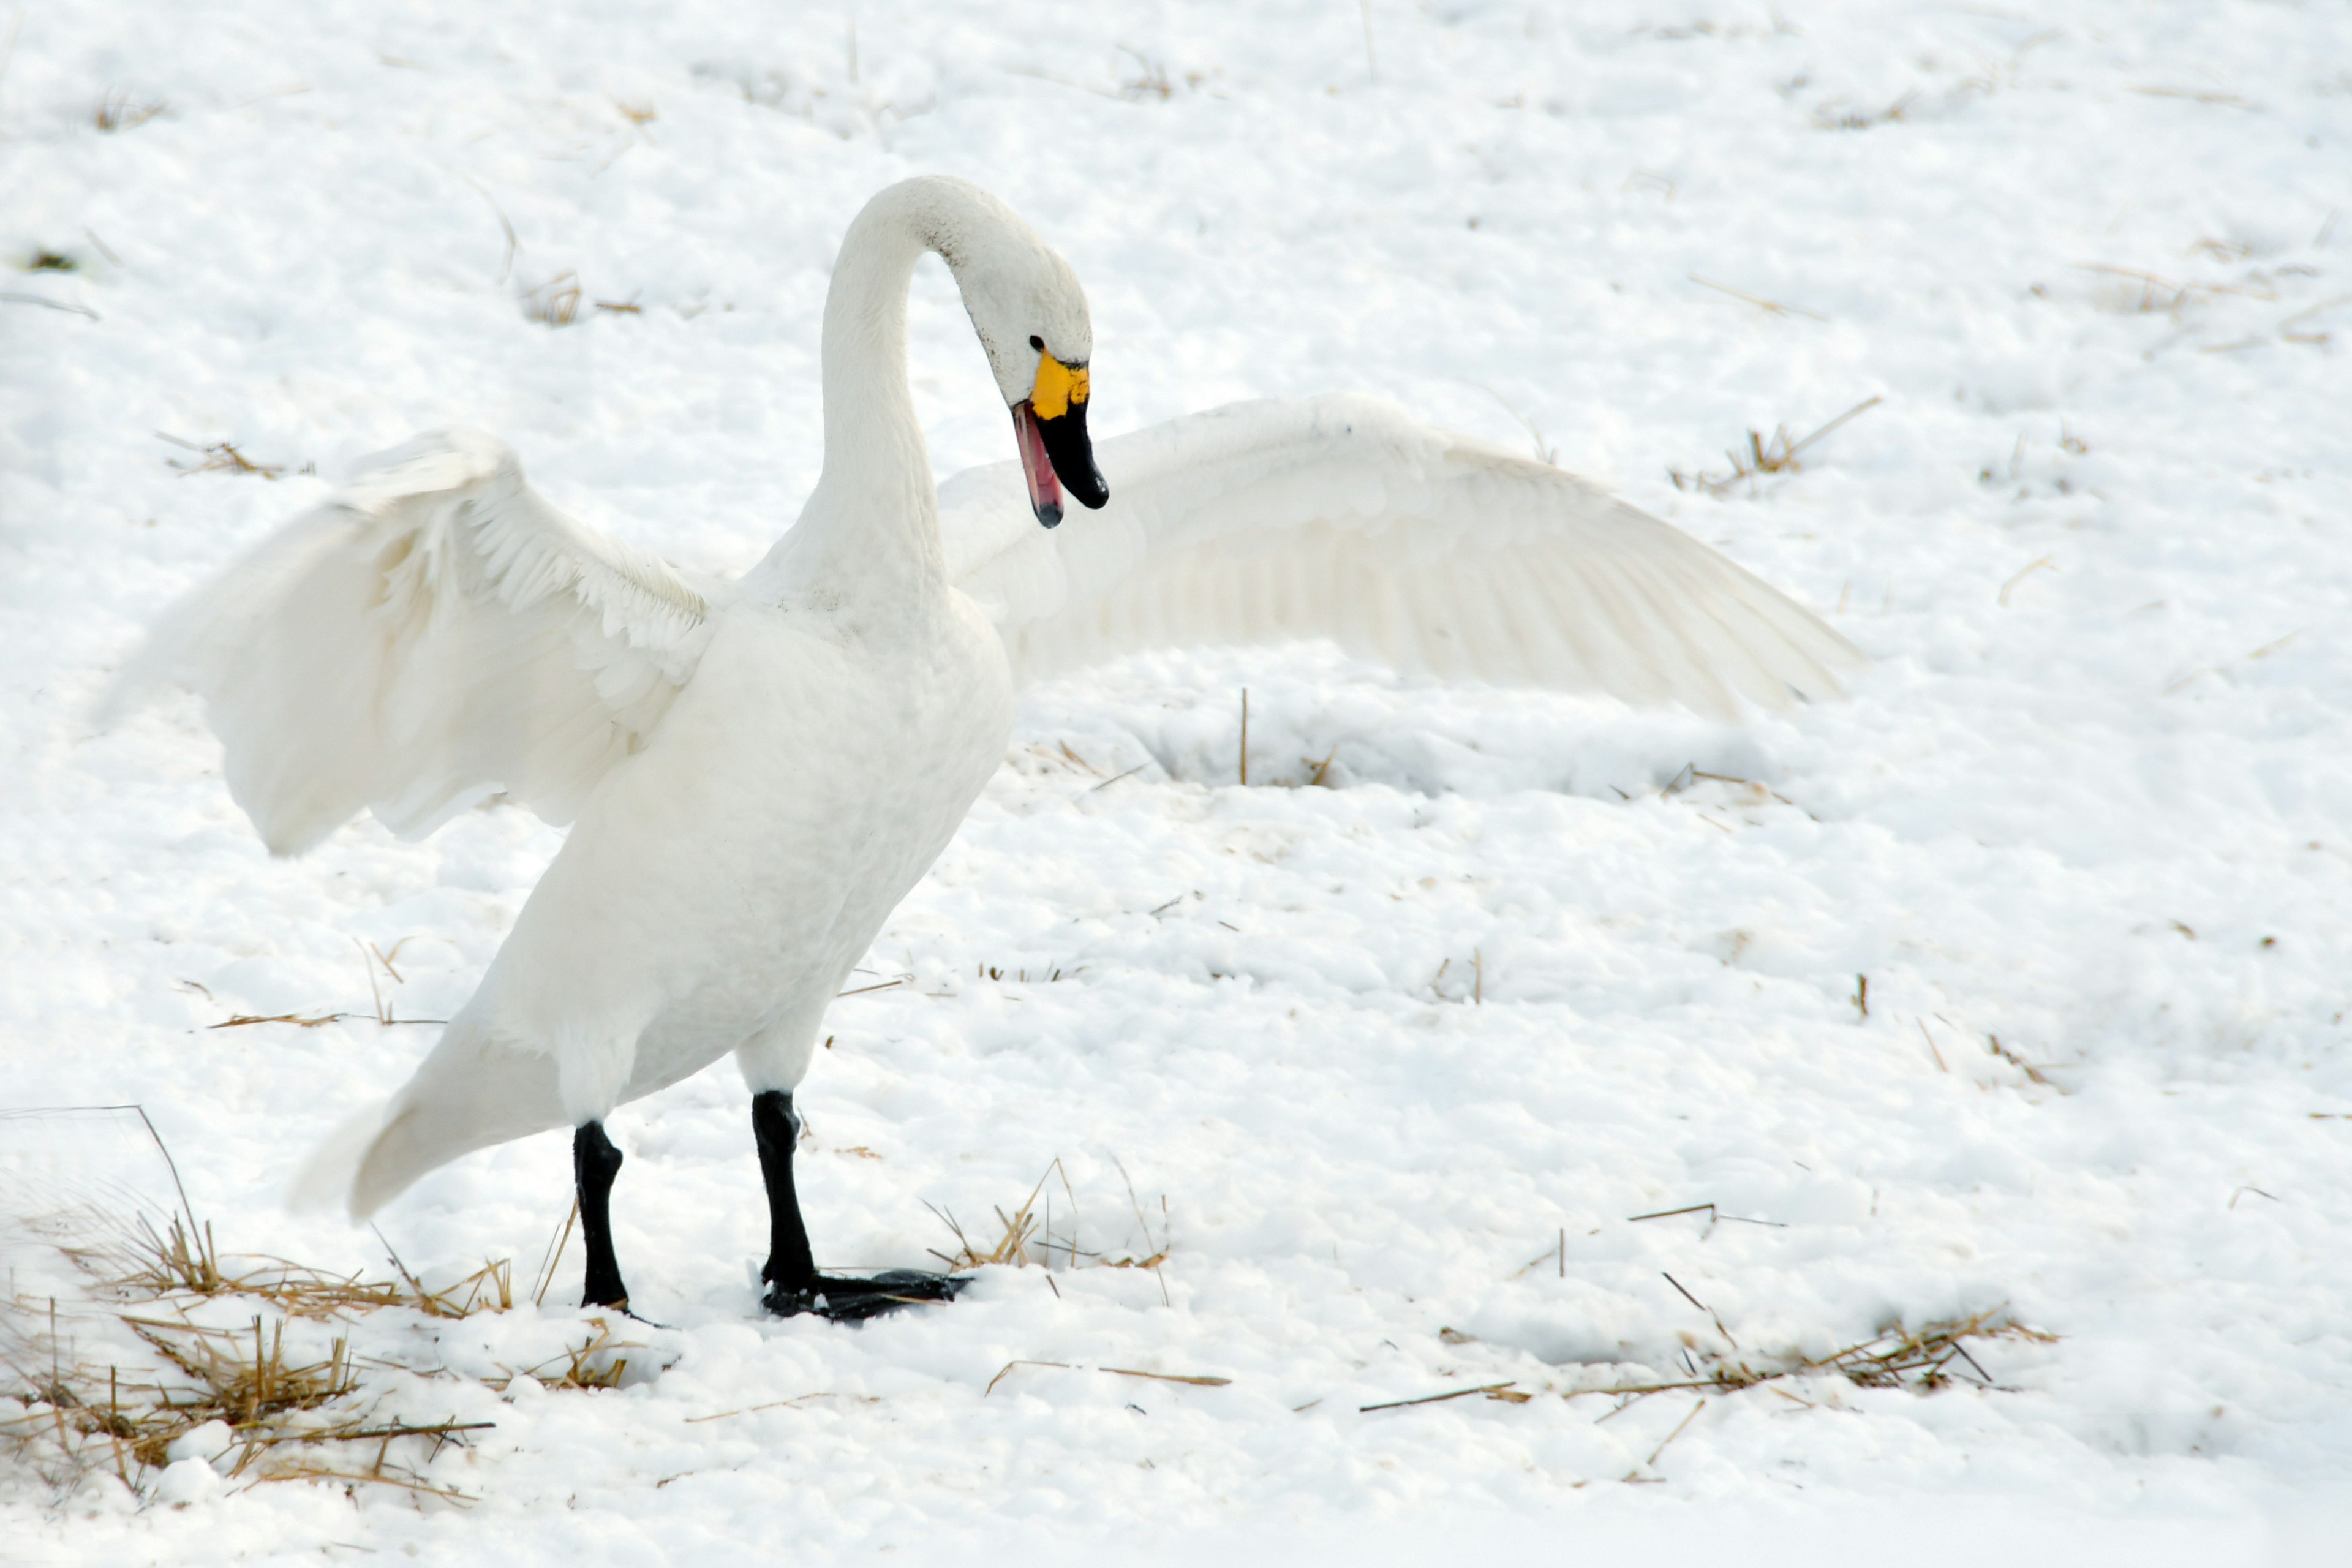
<instances>
[{"instance_id":1,"label":"swan's pointed white tail end behind its black legs","mask_svg":"<svg viewBox=\"0 0 2352 1568\"><path fill-rule=\"evenodd\" d=\"M508 1046L459 1013L400 1093L334 1128L303 1161L287 1204L365 1220L459 1154L564 1121L555 1058Z\"/></svg>"}]
</instances>

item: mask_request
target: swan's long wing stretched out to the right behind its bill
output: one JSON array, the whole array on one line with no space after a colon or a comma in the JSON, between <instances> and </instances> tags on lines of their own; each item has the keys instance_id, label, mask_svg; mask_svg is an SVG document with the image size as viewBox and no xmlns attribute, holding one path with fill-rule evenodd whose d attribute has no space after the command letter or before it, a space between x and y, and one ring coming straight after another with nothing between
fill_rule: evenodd
<instances>
[{"instance_id":1,"label":"swan's long wing stretched out to the right behind its bill","mask_svg":"<svg viewBox=\"0 0 2352 1568\"><path fill-rule=\"evenodd\" d=\"M1155 644L1331 637L1494 682L1788 708L1844 637L1583 480L1374 397L1237 402L1096 447L1110 505L1051 534L1016 463L941 487L948 574L1051 675Z\"/></svg>"}]
</instances>

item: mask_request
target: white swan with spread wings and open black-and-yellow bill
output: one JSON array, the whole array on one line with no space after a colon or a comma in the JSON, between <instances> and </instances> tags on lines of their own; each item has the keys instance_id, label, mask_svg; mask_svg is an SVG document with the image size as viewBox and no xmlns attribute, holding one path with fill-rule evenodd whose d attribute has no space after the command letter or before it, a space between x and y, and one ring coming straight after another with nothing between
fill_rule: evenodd
<instances>
[{"instance_id":1,"label":"white swan with spread wings and open black-and-yellow bill","mask_svg":"<svg viewBox=\"0 0 2352 1568\"><path fill-rule=\"evenodd\" d=\"M924 252L1016 442L946 487L906 378ZM1091 357L1077 275L1028 223L908 179L842 240L823 470L741 578L607 538L499 440L437 430L158 623L101 719L193 686L273 853L362 809L421 837L501 792L572 825L480 987L303 1166L299 1201L365 1218L459 1154L569 1126L581 1300L626 1309L604 1119L731 1051L769 1204L764 1307L953 1300L962 1281L936 1274L818 1272L793 1093L828 1001L1002 762L1018 679L1334 637L1406 670L1738 715L1839 696L1860 661L1691 536L1371 397L1242 402L1096 449Z\"/></svg>"}]
</instances>

